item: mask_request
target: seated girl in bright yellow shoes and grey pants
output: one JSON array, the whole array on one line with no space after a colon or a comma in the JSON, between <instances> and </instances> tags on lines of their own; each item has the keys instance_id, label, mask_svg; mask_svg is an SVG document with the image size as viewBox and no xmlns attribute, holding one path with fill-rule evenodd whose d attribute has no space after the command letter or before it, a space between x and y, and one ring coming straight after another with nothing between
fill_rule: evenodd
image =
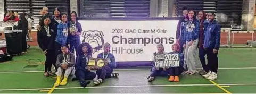
<instances>
[{"instance_id":1,"label":"seated girl in bright yellow shoes and grey pants","mask_svg":"<svg viewBox=\"0 0 256 94\"><path fill-rule=\"evenodd\" d=\"M69 52L67 46L61 47L62 53L57 56L56 66L58 71L56 72L57 80L54 83L54 86L65 86L68 82L68 77L71 73L71 70L75 65L75 55ZM61 81L61 76L64 73L64 79Z\"/></svg>"}]
</instances>

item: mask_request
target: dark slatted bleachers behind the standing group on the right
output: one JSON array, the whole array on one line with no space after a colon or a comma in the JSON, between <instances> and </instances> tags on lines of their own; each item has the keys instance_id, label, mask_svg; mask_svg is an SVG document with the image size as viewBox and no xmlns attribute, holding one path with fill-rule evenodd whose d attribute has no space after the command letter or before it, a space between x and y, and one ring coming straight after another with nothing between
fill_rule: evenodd
<instances>
[{"instance_id":1,"label":"dark slatted bleachers behind the standing group on the right","mask_svg":"<svg viewBox=\"0 0 256 94\"><path fill-rule=\"evenodd\" d=\"M189 10L215 12L221 28L231 28L231 25L241 24L243 4L241 0L177 0L176 3L178 15L182 15L181 9L187 5Z\"/></svg>"}]
</instances>

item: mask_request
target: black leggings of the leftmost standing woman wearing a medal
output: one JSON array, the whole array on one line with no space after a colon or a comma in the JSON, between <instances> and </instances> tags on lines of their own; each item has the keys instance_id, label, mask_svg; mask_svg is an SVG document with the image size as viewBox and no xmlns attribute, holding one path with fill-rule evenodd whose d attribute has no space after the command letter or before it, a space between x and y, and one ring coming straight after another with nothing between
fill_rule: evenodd
<instances>
[{"instance_id":1,"label":"black leggings of the leftmost standing woman wearing a medal","mask_svg":"<svg viewBox=\"0 0 256 94\"><path fill-rule=\"evenodd\" d=\"M45 56L46 56L45 72L52 72L52 64L56 63L54 50L47 50L47 53L45 54Z\"/></svg>"}]
</instances>

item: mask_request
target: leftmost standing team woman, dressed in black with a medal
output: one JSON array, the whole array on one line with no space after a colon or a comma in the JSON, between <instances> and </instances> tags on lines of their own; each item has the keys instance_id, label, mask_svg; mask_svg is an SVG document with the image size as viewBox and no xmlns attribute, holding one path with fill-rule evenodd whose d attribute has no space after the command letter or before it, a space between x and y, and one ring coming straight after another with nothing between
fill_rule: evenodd
<instances>
[{"instance_id":1,"label":"leftmost standing team woman, dressed in black with a medal","mask_svg":"<svg viewBox=\"0 0 256 94\"><path fill-rule=\"evenodd\" d=\"M45 61L45 76L52 75L52 64L55 61L55 51L54 51L54 38L52 36L53 30L51 29L51 19L48 15L44 16L40 22L39 25L42 28L42 30L37 32L37 42L39 44L39 47L43 50L46 61Z\"/></svg>"}]
</instances>

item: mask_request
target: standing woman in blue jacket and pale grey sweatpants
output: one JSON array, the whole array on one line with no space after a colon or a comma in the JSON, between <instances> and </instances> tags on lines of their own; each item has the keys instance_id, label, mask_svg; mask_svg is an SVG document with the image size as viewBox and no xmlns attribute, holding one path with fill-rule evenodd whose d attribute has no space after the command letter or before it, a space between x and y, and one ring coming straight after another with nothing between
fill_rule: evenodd
<instances>
[{"instance_id":1,"label":"standing woman in blue jacket and pale grey sweatpants","mask_svg":"<svg viewBox=\"0 0 256 94\"><path fill-rule=\"evenodd\" d=\"M196 73L195 69L195 50L198 45L199 21L196 20L195 12L189 11L188 13L188 24L186 24L185 35L184 35L184 48L185 48L185 60L187 64L188 71L187 74L193 75Z\"/></svg>"}]
</instances>

